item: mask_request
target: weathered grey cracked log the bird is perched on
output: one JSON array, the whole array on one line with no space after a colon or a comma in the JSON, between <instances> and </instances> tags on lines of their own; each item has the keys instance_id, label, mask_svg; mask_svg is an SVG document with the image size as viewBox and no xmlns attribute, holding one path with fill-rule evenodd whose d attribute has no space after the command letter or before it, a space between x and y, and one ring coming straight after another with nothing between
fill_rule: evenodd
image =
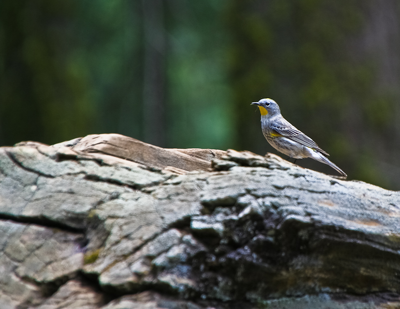
<instances>
[{"instance_id":1,"label":"weathered grey cracked log the bird is perched on","mask_svg":"<svg viewBox=\"0 0 400 309\"><path fill-rule=\"evenodd\" d=\"M400 193L116 134L0 148L0 308L400 307Z\"/></svg>"}]
</instances>

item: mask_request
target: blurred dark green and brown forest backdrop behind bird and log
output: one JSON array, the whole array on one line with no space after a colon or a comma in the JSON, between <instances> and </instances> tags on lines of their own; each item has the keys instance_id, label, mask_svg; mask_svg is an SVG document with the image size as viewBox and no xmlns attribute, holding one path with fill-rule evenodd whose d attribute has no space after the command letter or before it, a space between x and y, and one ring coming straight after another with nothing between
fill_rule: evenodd
<instances>
[{"instance_id":1,"label":"blurred dark green and brown forest backdrop behind bird and log","mask_svg":"<svg viewBox=\"0 0 400 309\"><path fill-rule=\"evenodd\" d=\"M400 190L400 2L0 2L0 146L120 133L277 153L250 106L265 97L349 179Z\"/></svg>"}]
</instances>

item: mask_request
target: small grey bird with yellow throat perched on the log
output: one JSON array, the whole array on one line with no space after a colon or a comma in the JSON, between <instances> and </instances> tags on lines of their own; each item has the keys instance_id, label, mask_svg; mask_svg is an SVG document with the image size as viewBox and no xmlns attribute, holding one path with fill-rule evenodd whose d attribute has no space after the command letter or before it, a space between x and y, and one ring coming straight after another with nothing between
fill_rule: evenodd
<instances>
[{"instance_id":1,"label":"small grey bird with yellow throat perched on the log","mask_svg":"<svg viewBox=\"0 0 400 309\"><path fill-rule=\"evenodd\" d=\"M294 159L311 158L325 163L338 171L342 176L347 175L330 162L328 154L308 136L292 126L280 114L279 106L271 99L261 99L251 104L257 105L261 113L261 129L265 139L277 151Z\"/></svg>"}]
</instances>

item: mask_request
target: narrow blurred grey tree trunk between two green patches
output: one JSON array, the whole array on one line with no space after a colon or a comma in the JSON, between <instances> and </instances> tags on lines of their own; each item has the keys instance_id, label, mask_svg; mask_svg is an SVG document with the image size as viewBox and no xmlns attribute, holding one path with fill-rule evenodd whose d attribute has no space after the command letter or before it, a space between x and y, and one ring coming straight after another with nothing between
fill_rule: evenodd
<instances>
[{"instance_id":1,"label":"narrow blurred grey tree trunk between two green patches","mask_svg":"<svg viewBox=\"0 0 400 309\"><path fill-rule=\"evenodd\" d=\"M143 137L165 146L165 31L161 0L143 0Z\"/></svg>"}]
</instances>

